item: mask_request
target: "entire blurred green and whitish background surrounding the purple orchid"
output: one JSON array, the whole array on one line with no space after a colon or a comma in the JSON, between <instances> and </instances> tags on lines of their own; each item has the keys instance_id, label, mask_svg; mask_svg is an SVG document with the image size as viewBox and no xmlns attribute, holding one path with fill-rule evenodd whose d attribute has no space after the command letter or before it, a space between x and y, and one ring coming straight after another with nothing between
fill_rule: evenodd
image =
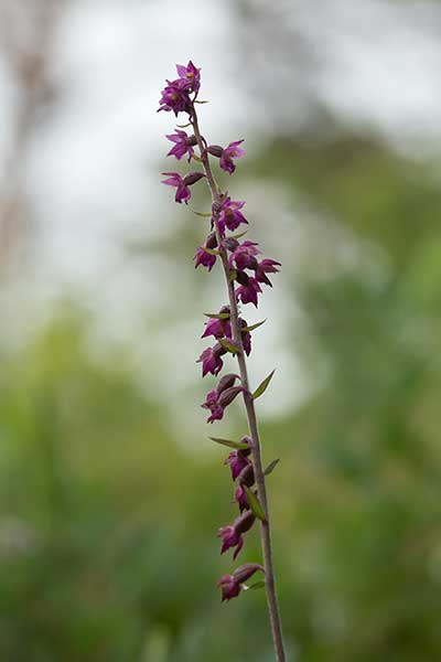
<instances>
[{"instance_id":1,"label":"entire blurred green and whitish background surrounding the purple orchid","mask_svg":"<svg viewBox=\"0 0 441 662\"><path fill-rule=\"evenodd\" d=\"M283 263L248 319L252 380L278 369L258 413L289 659L439 660L440 6L0 9L0 660L272 660L263 591L215 586L234 508L207 434L246 433L198 408L220 274L159 184L182 170L159 89L189 57Z\"/></svg>"}]
</instances>

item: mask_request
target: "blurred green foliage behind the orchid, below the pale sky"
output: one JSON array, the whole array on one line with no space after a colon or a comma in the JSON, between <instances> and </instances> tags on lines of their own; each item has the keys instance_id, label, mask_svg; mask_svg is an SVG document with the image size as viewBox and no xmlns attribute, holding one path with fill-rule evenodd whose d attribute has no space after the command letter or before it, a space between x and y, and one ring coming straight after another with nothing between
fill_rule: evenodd
<instances>
[{"instance_id":1,"label":"blurred green foliage behind the orchid, below the pale sky","mask_svg":"<svg viewBox=\"0 0 441 662\"><path fill-rule=\"evenodd\" d=\"M268 324L298 357L286 387L306 384L261 426L266 460L281 458L269 490L286 637L308 662L429 662L441 656L439 162L314 122L323 139L280 127L256 141L238 180L266 192L255 237L284 266ZM173 307L146 311L149 341L172 339L165 375L140 365L136 340L104 334L97 351L100 312L80 290L20 342L2 334L1 660L272 659L263 592L226 607L215 588L230 567L216 540L233 513L223 450L205 428L171 425L180 398L185 420L201 417L196 370L180 382L219 285L190 273L198 237L186 218L125 257L141 271L165 260L159 287L189 279ZM166 394L163 381L181 385ZM243 425L237 413L232 434ZM258 559L256 532L247 545Z\"/></svg>"}]
</instances>

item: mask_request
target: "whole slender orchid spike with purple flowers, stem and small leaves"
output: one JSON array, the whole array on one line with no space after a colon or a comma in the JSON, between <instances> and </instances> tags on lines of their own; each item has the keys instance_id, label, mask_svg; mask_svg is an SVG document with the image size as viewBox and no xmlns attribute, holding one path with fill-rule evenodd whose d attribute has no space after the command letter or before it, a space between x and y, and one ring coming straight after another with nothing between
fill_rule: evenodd
<instances>
[{"instance_id":1,"label":"whole slender orchid spike with purple flowers, stem and small leaves","mask_svg":"<svg viewBox=\"0 0 441 662\"><path fill-rule=\"evenodd\" d=\"M232 448L225 460L229 465L232 479L235 482L234 499L239 514L232 524L219 528L222 541L220 554L233 548L233 558L239 555L245 544L246 533L260 521L261 547L263 565L246 563L232 574L224 575L218 586L222 600L230 600L248 588L245 584L256 573L261 573L265 579L254 586L263 585L267 591L268 609L271 622L272 640L278 662L286 660L281 618L276 592L275 569L271 548L270 514L266 487L266 476L272 471L276 461L265 470L261 459L259 430L256 418L255 401L268 387L273 372L266 377L254 391L250 391L247 356L251 353L251 332L263 322L248 325L241 317L239 306L252 303L258 307L262 286L272 286L268 274L276 274L280 263L275 259L261 259L261 252L256 242L239 239L245 232L236 233L240 226L248 225L243 210L244 201L233 200L227 191L222 190L213 174L212 159L218 160L220 170L232 175L236 170L236 160L245 156L241 147L244 140L235 140L226 147L211 145L201 134L196 105L201 87L201 70L192 62L186 66L176 65L178 78L166 81L162 90L159 110L172 111L178 117L186 114L187 121L179 125L173 134L166 136L172 142L168 156L179 161L183 158L189 163L198 162L202 170L192 170L184 175L179 172L164 172L163 183L175 188L175 201L189 203L192 196L191 188L198 181L205 180L212 194L212 211L202 214L209 217L207 236L196 249L195 267L205 267L211 271L219 263L225 277L228 302L218 312L206 313L202 338L214 338L214 344L206 348L197 362L202 363L202 376L208 373L217 377L223 371L223 357L230 353L237 360L238 374L224 374L215 388L206 395L202 407L207 409L207 423L213 424L224 417L225 409L240 394L244 401L248 420L248 434L239 441L212 437L214 441ZM189 134L184 130L190 128ZM198 153L196 153L196 151ZM201 214L200 214L201 215ZM235 234L236 233L236 234Z\"/></svg>"}]
</instances>

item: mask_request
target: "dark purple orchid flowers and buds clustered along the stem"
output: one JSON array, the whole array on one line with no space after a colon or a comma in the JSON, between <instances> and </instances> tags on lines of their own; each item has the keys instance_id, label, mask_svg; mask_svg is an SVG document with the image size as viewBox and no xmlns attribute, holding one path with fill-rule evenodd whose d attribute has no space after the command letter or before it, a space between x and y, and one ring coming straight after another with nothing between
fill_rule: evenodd
<instances>
[{"instance_id":1,"label":"dark purple orchid flowers and buds clustered along the stem","mask_svg":"<svg viewBox=\"0 0 441 662\"><path fill-rule=\"evenodd\" d=\"M197 359L202 364L202 376L212 374L217 377L224 369L225 356L249 355L251 352L251 331L259 324L249 327L247 321L238 313L238 305L252 303L258 307L258 298L262 292L262 285L272 287L268 274L276 274L280 263L275 259L261 258L258 244L251 241L239 242L245 234L235 233L238 228L248 226L248 220L244 215L245 201L233 200L227 192L220 192L212 175L209 159L217 160L220 170L233 174L236 170L236 161L245 156L241 147L244 140L234 140L226 147L209 145L201 135L195 104L201 86L201 70L191 61L186 66L176 65L178 78L166 81L162 90L159 110L172 111L175 116L180 113L187 114L187 125L179 126L173 134L166 136L173 145L168 157L174 157L178 161L186 158L190 163L196 161L202 163L203 170L190 171L185 174L178 172L164 172L166 179L163 183L174 186L175 201L189 203L192 196L191 186L205 179L213 193L212 210L207 215L211 217L207 236L194 255L195 267L203 266L208 271L219 260L225 270L229 289L230 306L224 306L217 313L208 314L202 338L213 338L214 344L207 346ZM192 131L183 130L191 127ZM198 154L195 154L195 148ZM232 310L232 307L234 308ZM244 375L244 372L240 373ZM246 375L246 371L245 371ZM246 376L245 376L245 380ZM252 397L248 392L243 378L235 373L224 374L217 385L212 388L202 404L209 415L207 423L213 424L224 417L225 409L239 395ZM220 440L222 441L222 440ZM245 534L252 527L256 517L265 519L259 505L257 490L255 489L255 465L252 460L256 447L250 437L246 436L239 442L228 442L234 448L228 455L225 463L229 466L232 479L235 483L234 501L238 509L238 515L232 524L219 528L218 537L222 541L220 554L234 549L235 559L244 546ZM238 567L232 575L224 575L218 586L222 590L222 600L230 600L240 594L244 583L256 572L265 572L258 564L245 564Z\"/></svg>"}]
</instances>

